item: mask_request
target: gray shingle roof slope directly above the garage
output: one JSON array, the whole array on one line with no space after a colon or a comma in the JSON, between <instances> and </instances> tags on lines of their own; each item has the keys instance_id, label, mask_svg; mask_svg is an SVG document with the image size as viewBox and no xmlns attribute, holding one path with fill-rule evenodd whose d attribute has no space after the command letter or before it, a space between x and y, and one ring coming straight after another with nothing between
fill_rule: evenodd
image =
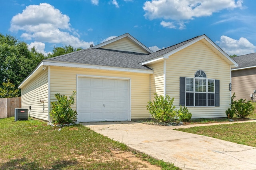
<instances>
[{"instance_id":1,"label":"gray shingle roof slope directly above the garage","mask_svg":"<svg viewBox=\"0 0 256 170\"><path fill-rule=\"evenodd\" d=\"M108 67L152 70L149 67L139 64L139 62L142 61L145 55L147 54L116 51L111 49L88 48L45 60L100 65Z\"/></svg>"}]
</instances>

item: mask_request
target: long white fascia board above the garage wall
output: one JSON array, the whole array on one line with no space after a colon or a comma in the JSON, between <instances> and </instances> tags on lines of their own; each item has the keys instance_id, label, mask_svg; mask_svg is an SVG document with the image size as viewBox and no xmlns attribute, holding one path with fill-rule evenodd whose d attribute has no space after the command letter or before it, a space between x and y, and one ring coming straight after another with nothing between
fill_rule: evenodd
<instances>
[{"instance_id":1,"label":"long white fascia board above the garage wall","mask_svg":"<svg viewBox=\"0 0 256 170\"><path fill-rule=\"evenodd\" d=\"M128 69L121 67L108 67L108 66L99 66L99 65L88 65L88 64L79 64L79 63L65 63L60 61L43 61L44 65L49 66L60 66L60 67L76 67L84 69L100 69L100 70L110 70L110 71L124 71L132 73L147 73L152 74L153 70L142 70L142 69Z\"/></svg>"}]
</instances>

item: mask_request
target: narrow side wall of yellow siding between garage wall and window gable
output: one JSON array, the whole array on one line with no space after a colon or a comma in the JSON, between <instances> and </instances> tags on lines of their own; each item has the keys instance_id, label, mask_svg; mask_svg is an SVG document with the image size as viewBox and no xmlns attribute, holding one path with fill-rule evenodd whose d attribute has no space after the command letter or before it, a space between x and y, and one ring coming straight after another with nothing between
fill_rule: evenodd
<instances>
[{"instance_id":1,"label":"narrow side wall of yellow siding between garage wall and window gable","mask_svg":"<svg viewBox=\"0 0 256 170\"><path fill-rule=\"evenodd\" d=\"M147 66L154 70L154 73L150 75L150 98L154 100L154 93L164 95L164 61Z\"/></svg>"}]
</instances>

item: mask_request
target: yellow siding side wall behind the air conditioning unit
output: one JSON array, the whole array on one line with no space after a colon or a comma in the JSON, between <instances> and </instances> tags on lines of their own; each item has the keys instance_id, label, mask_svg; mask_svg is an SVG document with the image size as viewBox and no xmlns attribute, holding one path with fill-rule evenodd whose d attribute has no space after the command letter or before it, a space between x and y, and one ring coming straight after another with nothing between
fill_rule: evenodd
<instances>
[{"instance_id":1,"label":"yellow siding side wall behind the air conditioning unit","mask_svg":"<svg viewBox=\"0 0 256 170\"><path fill-rule=\"evenodd\" d=\"M31 117L48 121L48 69L41 71L21 89L21 107L29 109L30 106Z\"/></svg>"}]
</instances>

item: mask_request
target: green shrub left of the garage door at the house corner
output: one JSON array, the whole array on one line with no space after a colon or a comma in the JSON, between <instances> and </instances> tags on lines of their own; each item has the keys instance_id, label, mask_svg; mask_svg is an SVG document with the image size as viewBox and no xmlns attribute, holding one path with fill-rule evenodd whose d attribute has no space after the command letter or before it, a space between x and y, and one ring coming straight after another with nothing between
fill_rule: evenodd
<instances>
[{"instance_id":1,"label":"green shrub left of the garage door at the house corner","mask_svg":"<svg viewBox=\"0 0 256 170\"><path fill-rule=\"evenodd\" d=\"M75 103L75 95L76 91L73 91L69 99L66 95L60 95L60 93L54 95L58 100L51 102L52 110L50 111L50 116L53 117L54 123L69 124L76 121L77 112L71 109L71 106Z\"/></svg>"}]
</instances>

